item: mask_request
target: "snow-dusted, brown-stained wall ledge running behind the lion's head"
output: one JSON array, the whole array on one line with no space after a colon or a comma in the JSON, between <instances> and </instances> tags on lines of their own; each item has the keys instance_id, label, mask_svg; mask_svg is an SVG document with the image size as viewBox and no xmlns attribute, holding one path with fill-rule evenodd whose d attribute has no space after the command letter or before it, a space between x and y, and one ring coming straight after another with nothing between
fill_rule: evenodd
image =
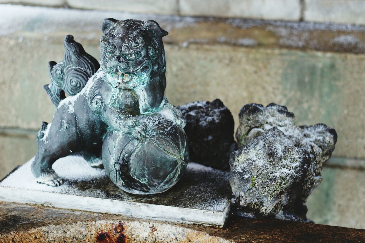
<instances>
[{"instance_id":1,"label":"snow-dusted, brown-stained wall ledge running behind the lion's head","mask_svg":"<svg viewBox=\"0 0 365 243\"><path fill-rule=\"evenodd\" d=\"M170 33L165 37L164 42L178 43L181 46L187 46L189 43L218 43L248 47L365 53L365 26L347 24L209 19L4 4L0 7L0 16L3 16L0 19L0 35L15 34L20 39L35 37L39 34L42 34L40 36L42 40L50 36L64 39L65 35L73 34L77 39L99 41L101 21L113 17L156 20ZM46 37L45 34L47 34Z\"/></svg>"}]
</instances>

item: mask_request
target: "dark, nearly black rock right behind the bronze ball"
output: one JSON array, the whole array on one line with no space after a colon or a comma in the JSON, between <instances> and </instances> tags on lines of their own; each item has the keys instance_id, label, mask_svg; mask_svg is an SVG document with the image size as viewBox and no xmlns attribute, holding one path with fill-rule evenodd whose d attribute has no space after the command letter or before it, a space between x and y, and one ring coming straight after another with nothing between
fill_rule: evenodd
<instances>
[{"instance_id":1,"label":"dark, nearly black rock right behind the bronze ball","mask_svg":"<svg viewBox=\"0 0 365 243\"><path fill-rule=\"evenodd\" d=\"M178 108L186 118L189 159L215 169L228 169L230 154L237 149L229 109L219 99L191 102Z\"/></svg>"}]
</instances>

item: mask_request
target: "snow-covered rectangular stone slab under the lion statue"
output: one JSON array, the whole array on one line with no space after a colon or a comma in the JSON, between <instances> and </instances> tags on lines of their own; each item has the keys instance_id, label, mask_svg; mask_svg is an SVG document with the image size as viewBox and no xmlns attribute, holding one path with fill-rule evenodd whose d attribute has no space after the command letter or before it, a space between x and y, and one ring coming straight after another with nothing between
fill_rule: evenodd
<instances>
[{"instance_id":1,"label":"snow-covered rectangular stone slab under the lion statue","mask_svg":"<svg viewBox=\"0 0 365 243\"><path fill-rule=\"evenodd\" d=\"M172 189L140 196L119 189L103 169L90 167L78 156L54 163L53 169L64 181L61 186L38 184L30 170L32 161L17 167L0 182L1 201L219 227L228 217L228 173L210 167L189 163Z\"/></svg>"}]
</instances>

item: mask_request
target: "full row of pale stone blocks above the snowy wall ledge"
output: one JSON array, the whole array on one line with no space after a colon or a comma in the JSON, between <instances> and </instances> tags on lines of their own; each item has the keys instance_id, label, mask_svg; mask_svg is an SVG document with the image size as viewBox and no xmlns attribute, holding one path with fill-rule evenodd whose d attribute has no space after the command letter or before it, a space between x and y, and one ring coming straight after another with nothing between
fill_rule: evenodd
<instances>
[{"instance_id":1,"label":"full row of pale stone blocks above the snowy wall ledge","mask_svg":"<svg viewBox=\"0 0 365 243\"><path fill-rule=\"evenodd\" d=\"M365 24L365 0L0 0L133 13Z\"/></svg>"}]
</instances>

